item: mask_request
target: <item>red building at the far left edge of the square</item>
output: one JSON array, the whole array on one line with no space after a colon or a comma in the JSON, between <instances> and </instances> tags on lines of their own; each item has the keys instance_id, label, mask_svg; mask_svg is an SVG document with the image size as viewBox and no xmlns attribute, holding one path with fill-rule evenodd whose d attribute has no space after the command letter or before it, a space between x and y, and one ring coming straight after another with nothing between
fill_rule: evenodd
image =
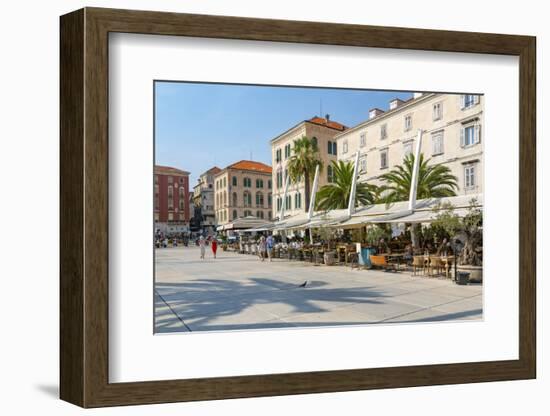
<instances>
[{"instance_id":1,"label":"red building at the far left edge of the square","mask_svg":"<svg viewBox=\"0 0 550 416\"><path fill-rule=\"evenodd\" d=\"M163 233L189 231L189 172L169 166L154 169L155 229Z\"/></svg>"}]
</instances>

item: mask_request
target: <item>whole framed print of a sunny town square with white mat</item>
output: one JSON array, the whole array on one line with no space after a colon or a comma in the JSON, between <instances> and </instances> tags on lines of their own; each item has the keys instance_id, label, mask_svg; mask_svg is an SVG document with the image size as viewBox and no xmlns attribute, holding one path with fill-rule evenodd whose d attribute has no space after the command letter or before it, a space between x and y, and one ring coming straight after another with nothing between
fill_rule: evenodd
<instances>
[{"instance_id":1,"label":"whole framed print of a sunny town square with white mat","mask_svg":"<svg viewBox=\"0 0 550 416\"><path fill-rule=\"evenodd\" d=\"M535 38L61 17L61 398L534 378Z\"/></svg>"}]
</instances>

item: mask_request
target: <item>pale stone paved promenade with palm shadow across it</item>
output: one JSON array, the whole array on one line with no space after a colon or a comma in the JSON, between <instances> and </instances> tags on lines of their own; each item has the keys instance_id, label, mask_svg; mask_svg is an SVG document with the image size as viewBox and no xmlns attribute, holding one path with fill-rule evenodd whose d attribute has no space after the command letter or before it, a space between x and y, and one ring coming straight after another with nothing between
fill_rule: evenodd
<instances>
[{"instance_id":1,"label":"pale stone paved promenade with palm shadow across it","mask_svg":"<svg viewBox=\"0 0 550 416\"><path fill-rule=\"evenodd\" d=\"M482 318L482 286L258 257L209 247L156 250L156 331L472 320ZM305 288L300 287L305 281Z\"/></svg>"}]
</instances>

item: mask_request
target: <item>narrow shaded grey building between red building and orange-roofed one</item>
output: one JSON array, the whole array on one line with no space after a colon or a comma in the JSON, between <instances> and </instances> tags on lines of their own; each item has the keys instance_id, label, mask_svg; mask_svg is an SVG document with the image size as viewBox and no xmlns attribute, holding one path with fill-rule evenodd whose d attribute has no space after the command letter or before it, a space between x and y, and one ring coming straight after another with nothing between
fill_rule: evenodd
<instances>
[{"instance_id":1,"label":"narrow shaded grey building between red building and orange-roofed one","mask_svg":"<svg viewBox=\"0 0 550 416\"><path fill-rule=\"evenodd\" d=\"M217 166L202 173L198 183L193 187L193 205L195 217L200 229L211 233L216 226L216 211L214 207L214 176L221 172Z\"/></svg>"}]
</instances>

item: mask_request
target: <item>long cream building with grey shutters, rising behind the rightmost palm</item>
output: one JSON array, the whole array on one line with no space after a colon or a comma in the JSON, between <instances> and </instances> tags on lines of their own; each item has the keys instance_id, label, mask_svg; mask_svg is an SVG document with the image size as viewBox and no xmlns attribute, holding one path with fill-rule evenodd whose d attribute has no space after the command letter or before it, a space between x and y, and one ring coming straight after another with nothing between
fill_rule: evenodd
<instances>
[{"instance_id":1,"label":"long cream building with grey shutters, rising behind the rightmost palm","mask_svg":"<svg viewBox=\"0 0 550 416\"><path fill-rule=\"evenodd\" d=\"M430 164L448 166L458 178L458 194L483 190L483 96L415 93L394 99L387 111L373 108L369 119L336 137L338 159L354 161L360 152L359 180L380 185L380 175L400 165L416 149Z\"/></svg>"}]
</instances>

